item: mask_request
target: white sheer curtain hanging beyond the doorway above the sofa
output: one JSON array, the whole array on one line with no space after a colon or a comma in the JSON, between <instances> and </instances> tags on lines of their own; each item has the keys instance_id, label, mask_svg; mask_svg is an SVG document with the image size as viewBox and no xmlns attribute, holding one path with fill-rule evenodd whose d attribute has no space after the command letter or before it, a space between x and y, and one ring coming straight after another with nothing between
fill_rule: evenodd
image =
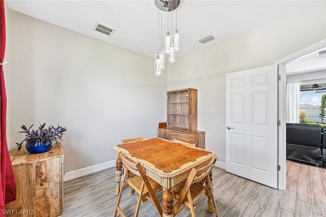
<instances>
[{"instance_id":1,"label":"white sheer curtain hanging beyond the doorway above the sofa","mask_svg":"<svg viewBox=\"0 0 326 217\"><path fill-rule=\"evenodd\" d=\"M286 84L286 123L300 123L300 82Z\"/></svg>"}]
</instances>

